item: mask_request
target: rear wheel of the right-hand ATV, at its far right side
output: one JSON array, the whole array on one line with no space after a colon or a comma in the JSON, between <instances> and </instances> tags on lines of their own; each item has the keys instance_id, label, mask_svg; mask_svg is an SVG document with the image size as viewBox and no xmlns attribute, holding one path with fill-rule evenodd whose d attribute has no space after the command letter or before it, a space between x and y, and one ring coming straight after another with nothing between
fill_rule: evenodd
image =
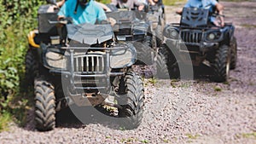
<instances>
[{"instance_id":1,"label":"rear wheel of the right-hand ATV, at its far right side","mask_svg":"<svg viewBox=\"0 0 256 144\"><path fill-rule=\"evenodd\" d=\"M231 51L230 69L233 70L236 68L236 61L237 61L236 37L234 37L230 43L230 51Z\"/></svg>"}]
</instances>

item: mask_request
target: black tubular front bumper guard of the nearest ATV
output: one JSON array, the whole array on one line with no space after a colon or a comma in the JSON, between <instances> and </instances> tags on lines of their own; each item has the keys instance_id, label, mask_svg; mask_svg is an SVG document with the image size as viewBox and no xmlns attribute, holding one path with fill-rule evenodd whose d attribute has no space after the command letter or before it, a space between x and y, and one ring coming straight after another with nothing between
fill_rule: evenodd
<instances>
[{"instance_id":1,"label":"black tubular front bumper guard of the nearest ATV","mask_svg":"<svg viewBox=\"0 0 256 144\"><path fill-rule=\"evenodd\" d=\"M91 47L61 47L65 49L68 55L67 70L50 69L49 72L61 73L62 76L69 79L71 89L107 89L110 90L110 78L115 76L124 76L125 72L111 72L110 55L112 50L128 49L127 46L114 48L91 48ZM87 50L100 51L100 55L85 54ZM76 56L76 52L84 52L84 55ZM84 62L86 61L86 62ZM102 62L99 67L100 61ZM83 63L84 62L84 63ZM90 64L89 64L90 62ZM80 68L79 68L80 66ZM86 67L87 68L83 68ZM98 66L98 67L96 67ZM85 71L86 70L86 71ZM76 79L80 79L79 86ZM96 84L88 86L88 82L96 82L98 79L103 80L105 84ZM101 83L101 82L99 82ZM91 84L89 84L91 85ZM98 85L98 86L97 86Z\"/></svg>"}]
</instances>

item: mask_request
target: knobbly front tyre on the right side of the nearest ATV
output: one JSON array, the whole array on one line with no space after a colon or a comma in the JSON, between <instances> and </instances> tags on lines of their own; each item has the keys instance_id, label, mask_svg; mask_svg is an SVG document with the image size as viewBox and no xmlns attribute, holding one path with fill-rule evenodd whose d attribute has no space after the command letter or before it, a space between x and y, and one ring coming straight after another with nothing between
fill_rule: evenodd
<instances>
[{"instance_id":1,"label":"knobbly front tyre on the right side of the nearest ATV","mask_svg":"<svg viewBox=\"0 0 256 144\"><path fill-rule=\"evenodd\" d=\"M135 72L128 72L123 83L120 84L124 84L121 87L125 87L125 97L123 97L124 105L119 108L119 117L124 118L122 125L125 129L136 129L142 123L144 111L145 97L142 78Z\"/></svg>"}]
</instances>

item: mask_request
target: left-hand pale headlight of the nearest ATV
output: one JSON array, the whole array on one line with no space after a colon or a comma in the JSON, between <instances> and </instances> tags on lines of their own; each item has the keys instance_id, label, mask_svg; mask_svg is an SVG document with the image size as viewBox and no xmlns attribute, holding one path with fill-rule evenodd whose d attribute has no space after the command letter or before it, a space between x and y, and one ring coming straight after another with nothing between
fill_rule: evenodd
<instances>
[{"instance_id":1,"label":"left-hand pale headlight of the nearest ATV","mask_svg":"<svg viewBox=\"0 0 256 144\"><path fill-rule=\"evenodd\" d=\"M45 55L47 64L53 68L66 69L67 58L65 55L49 51Z\"/></svg>"}]
</instances>

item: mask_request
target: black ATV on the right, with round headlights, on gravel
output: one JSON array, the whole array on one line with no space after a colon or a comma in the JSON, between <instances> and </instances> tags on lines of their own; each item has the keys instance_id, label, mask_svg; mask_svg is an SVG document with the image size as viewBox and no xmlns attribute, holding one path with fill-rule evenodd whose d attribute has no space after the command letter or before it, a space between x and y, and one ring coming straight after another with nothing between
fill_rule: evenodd
<instances>
[{"instance_id":1,"label":"black ATV on the right, with round headlights, on gravel","mask_svg":"<svg viewBox=\"0 0 256 144\"><path fill-rule=\"evenodd\" d=\"M210 22L212 15L224 16L210 14L208 9L183 8L180 23L165 27L166 42L158 61L166 63L171 76L177 64L187 65L192 61L192 66L211 67L213 81L227 81L230 69L236 67L235 26L231 23L214 26Z\"/></svg>"}]
</instances>

